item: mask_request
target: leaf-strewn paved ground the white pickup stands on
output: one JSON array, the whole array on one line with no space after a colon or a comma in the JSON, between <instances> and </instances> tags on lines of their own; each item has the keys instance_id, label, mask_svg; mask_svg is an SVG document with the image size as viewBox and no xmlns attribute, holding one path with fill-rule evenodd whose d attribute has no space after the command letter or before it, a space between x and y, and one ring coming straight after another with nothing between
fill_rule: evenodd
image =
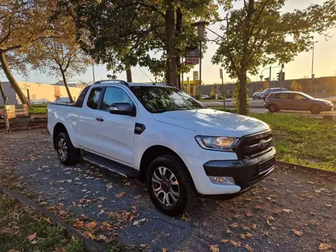
<instances>
[{"instance_id":1,"label":"leaf-strewn paved ground the white pickup stands on","mask_svg":"<svg viewBox=\"0 0 336 252\"><path fill-rule=\"evenodd\" d=\"M200 197L193 211L157 211L146 187L81 161L64 167L44 130L0 135L0 183L36 201L87 237L120 251L333 251L336 177L277 169L234 200ZM10 179L10 181L8 181ZM115 246L115 245L113 245ZM114 249L114 248L113 248Z\"/></svg>"}]
</instances>

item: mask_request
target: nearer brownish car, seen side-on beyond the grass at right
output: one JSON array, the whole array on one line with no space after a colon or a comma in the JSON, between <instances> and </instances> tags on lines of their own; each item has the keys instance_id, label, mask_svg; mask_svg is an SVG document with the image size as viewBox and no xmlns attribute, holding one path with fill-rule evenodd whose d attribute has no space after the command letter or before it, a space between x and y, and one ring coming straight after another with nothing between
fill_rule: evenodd
<instances>
[{"instance_id":1,"label":"nearer brownish car, seen side-on beyond the grass at right","mask_svg":"<svg viewBox=\"0 0 336 252\"><path fill-rule=\"evenodd\" d=\"M271 112L279 110L311 111L319 114L322 111L332 111L333 104L325 99L315 99L302 92L274 92L269 94L264 103Z\"/></svg>"}]
</instances>

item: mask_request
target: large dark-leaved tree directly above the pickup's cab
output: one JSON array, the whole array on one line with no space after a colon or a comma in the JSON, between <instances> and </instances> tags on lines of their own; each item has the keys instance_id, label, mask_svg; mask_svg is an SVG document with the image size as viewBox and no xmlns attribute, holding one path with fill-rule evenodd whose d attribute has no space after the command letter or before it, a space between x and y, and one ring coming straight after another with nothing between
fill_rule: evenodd
<instances>
[{"instance_id":1,"label":"large dark-leaved tree directly above the pickup's cab","mask_svg":"<svg viewBox=\"0 0 336 252\"><path fill-rule=\"evenodd\" d=\"M197 44L191 23L218 15L214 0L63 0L61 6L76 18L78 38L90 38L81 45L96 62L114 71L147 66L176 86L178 74L190 70L180 57Z\"/></svg>"}]
</instances>

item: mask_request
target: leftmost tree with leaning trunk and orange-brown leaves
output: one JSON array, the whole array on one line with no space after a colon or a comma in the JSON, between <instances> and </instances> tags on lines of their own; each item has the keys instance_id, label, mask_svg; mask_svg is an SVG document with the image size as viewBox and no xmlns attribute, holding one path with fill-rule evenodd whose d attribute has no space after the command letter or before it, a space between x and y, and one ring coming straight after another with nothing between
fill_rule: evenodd
<instances>
[{"instance_id":1,"label":"leftmost tree with leaning trunk and orange-brown leaves","mask_svg":"<svg viewBox=\"0 0 336 252\"><path fill-rule=\"evenodd\" d=\"M22 57L29 46L55 36L49 22L56 0L2 0L0 3L0 63L22 104L29 104L16 82L8 57Z\"/></svg>"}]
</instances>

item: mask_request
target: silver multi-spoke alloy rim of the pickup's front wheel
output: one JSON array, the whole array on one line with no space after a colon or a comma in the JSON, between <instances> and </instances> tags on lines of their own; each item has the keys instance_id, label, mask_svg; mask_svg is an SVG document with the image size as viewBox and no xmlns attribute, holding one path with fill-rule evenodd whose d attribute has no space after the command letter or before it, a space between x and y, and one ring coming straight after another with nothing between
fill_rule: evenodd
<instances>
[{"instance_id":1,"label":"silver multi-spoke alloy rim of the pickup's front wheel","mask_svg":"<svg viewBox=\"0 0 336 252\"><path fill-rule=\"evenodd\" d=\"M152 188L155 197L166 207L172 207L179 200L180 188L174 173L166 167L158 167L152 174Z\"/></svg>"}]
</instances>

